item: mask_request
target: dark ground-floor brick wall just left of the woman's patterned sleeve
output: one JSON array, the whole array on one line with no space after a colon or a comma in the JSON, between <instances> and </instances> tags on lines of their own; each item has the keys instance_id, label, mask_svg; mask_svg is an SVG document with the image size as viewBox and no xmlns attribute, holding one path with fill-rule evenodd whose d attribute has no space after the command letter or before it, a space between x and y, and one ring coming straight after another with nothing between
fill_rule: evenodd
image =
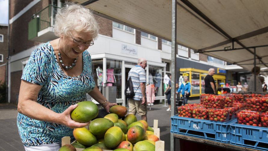
<instances>
[{"instance_id":1,"label":"dark ground-floor brick wall just left of the woman's patterned sleeve","mask_svg":"<svg viewBox=\"0 0 268 151\"><path fill-rule=\"evenodd\" d=\"M19 94L20 91L20 82L21 82L21 75L22 71L16 71L16 72L11 72L11 86L10 86L10 102L11 103L17 103L16 102L16 94Z\"/></svg>"}]
</instances>

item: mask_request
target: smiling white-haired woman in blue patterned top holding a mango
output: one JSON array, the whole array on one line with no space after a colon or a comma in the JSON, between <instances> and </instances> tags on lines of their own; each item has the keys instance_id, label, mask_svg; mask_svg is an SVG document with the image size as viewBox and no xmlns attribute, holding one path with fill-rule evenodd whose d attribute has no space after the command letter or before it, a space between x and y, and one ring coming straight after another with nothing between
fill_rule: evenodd
<instances>
[{"instance_id":1,"label":"smiling white-haired woman in blue patterned top holding a mango","mask_svg":"<svg viewBox=\"0 0 268 151\"><path fill-rule=\"evenodd\" d=\"M109 103L95 86L86 51L98 34L93 14L81 5L63 7L55 19L58 39L36 48L21 77L17 126L26 151L59 150L61 138L72 136L78 123L70 113L88 93L109 112Z\"/></svg>"}]
</instances>

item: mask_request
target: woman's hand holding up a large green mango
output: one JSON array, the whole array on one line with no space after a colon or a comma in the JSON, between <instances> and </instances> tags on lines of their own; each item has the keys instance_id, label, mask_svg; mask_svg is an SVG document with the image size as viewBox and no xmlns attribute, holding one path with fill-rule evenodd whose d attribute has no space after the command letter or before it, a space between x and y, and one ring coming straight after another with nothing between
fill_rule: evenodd
<instances>
[{"instance_id":1,"label":"woman's hand holding up a large green mango","mask_svg":"<svg viewBox=\"0 0 268 151\"><path fill-rule=\"evenodd\" d=\"M90 123L90 121L87 123L79 123L79 122L76 122L76 121L71 119L71 112L77 106L78 106L77 104L71 105L64 112L60 113L59 114L59 120L60 120L59 123L64 125L64 126L70 127L71 129L82 128L82 127L87 126Z\"/></svg>"}]
</instances>

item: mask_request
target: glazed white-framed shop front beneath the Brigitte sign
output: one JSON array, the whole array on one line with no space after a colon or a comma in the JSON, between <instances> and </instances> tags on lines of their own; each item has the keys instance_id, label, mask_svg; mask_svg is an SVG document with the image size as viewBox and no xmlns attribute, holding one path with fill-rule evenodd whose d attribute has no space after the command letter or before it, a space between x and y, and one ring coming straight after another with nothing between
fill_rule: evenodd
<instances>
[{"instance_id":1,"label":"glazed white-framed shop front beneath the Brigitte sign","mask_svg":"<svg viewBox=\"0 0 268 151\"><path fill-rule=\"evenodd\" d=\"M138 59L105 53L92 54L91 57L93 77L100 92L106 98L114 98L116 103L122 103L123 106L126 106L127 99L124 90L128 72L137 64ZM165 68L166 63L147 61L145 68L146 85L154 89L155 100L165 99L162 82L163 75L166 74ZM113 94L114 97L111 96ZM88 97L90 96L88 95ZM88 99L97 103L93 98Z\"/></svg>"}]
</instances>

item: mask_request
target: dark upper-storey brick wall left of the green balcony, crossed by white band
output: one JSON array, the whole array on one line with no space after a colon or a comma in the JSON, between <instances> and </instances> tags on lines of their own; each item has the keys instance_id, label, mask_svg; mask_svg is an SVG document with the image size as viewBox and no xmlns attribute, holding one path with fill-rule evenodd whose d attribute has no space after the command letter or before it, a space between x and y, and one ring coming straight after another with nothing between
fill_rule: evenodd
<instances>
[{"instance_id":1,"label":"dark upper-storey brick wall left of the green balcony, crossed by white band","mask_svg":"<svg viewBox=\"0 0 268 151\"><path fill-rule=\"evenodd\" d=\"M9 10L10 19L20 10L26 7L32 0L10 0ZM20 18L10 24L10 55L26 50L41 42L28 40L28 23L31 21L33 14L50 4L50 0L39 1L35 6L25 12Z\"/></svg>"}]
</instances>

